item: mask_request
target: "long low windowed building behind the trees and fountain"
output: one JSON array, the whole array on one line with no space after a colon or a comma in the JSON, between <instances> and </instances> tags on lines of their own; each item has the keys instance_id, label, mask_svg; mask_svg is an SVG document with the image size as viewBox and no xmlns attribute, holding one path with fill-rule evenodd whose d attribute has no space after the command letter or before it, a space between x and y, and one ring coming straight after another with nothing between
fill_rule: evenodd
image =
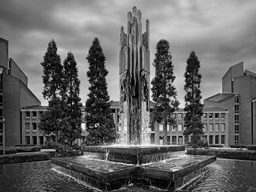
<instances>
[{"instance_id":1,"label":"long low windowed building behind the trees and fountain","mask_svg":"<svg viewBox=\"0 0 256 192\"><path fill-rule=\"evenodd\" d=\"M153 110L154 103L151 102L151 110ZM22 144L37 144L43 145L45 142L50 141L49 137L43 137L43 134L38 130L38 122L40 122L40 115L46 112L47 107L34 106L24 107L21 109L22 117ZM114 117L114 123L119 132L119 102L111 101L110 109ZM85 142L86 125L85 125L85 107L82 110L82 139L77 139L75 143L83 144ZM209 144L222 144L228 146L228 111L221 108L204 108L203 109L203 126L206 141ZM183 136L184 130L184 112L182 109L174 112L176 119L176 126L167 127L166 144L188 144L190 137ZM164 142L164 124L154 122L151 124L150 139L151 144L165 144Z\"/></svg>"}]
</instances>

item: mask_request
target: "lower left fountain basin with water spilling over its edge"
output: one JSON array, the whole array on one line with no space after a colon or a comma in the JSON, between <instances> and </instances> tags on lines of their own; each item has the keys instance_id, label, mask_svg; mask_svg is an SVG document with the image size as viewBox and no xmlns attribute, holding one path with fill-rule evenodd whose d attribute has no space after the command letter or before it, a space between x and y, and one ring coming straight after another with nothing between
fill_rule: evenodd
<instances>
[{"instance_id":1,"label":"lower left fountain basin with water spilling over its edge","mask_svg":"<svg viewBox=\"0 0 256 192\"><path fill-rule=\"evenodd\" d=\"M101 190L111 191L129 183L137 167L83 156L51 159L55 171L67 174Z\"/></svg>"}]
</instances>

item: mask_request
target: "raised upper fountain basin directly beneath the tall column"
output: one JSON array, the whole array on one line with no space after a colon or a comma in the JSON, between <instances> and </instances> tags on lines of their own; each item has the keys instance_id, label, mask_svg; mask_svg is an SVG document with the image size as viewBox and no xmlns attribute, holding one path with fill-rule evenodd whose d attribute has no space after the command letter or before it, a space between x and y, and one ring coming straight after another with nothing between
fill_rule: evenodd
<instances>
[{"instance_id":1,"label":"raised upper fountain basin directly beneath the tall column","mask_svg":"<svg viewBox=\"0 0 256 192\"><path fill-rule=\"evenodd\" d=\"M181 145L149 145L149 146L84 146L83 151L94 153L98 159L122 162L126 164L147 164L170 159L176 151L184 151Z\"/></svg>"}]
</instances>

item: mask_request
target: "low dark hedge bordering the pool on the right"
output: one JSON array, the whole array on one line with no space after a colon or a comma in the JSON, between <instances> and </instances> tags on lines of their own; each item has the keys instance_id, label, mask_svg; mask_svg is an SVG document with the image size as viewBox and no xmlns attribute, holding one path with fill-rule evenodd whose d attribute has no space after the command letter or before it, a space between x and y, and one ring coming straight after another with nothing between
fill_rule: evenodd
<instances>
[{"instance_id":1,"label":"low dark hedge bordering the pool on the right","mask_svg":"<svg viewBox=\"0 0 256 192\"><path fill-rule=\"evenodd\" d=\"M256 161L256 151L250 151L246 149L186 149L186 154L213 155L223 159Z\"/></svg>"}]
</instances>

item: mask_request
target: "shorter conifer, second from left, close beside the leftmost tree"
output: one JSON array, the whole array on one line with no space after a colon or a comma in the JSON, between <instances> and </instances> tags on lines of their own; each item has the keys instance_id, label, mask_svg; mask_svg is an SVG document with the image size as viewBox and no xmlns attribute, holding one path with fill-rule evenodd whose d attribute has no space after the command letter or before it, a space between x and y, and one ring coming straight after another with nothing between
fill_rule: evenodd
<instances>
[{"instance_id":1,"label":"shorter conifer, second from left, close beside the leftmost tree","mask_svg":"<svg viewBox=\"0 0 256 192\"><path fill-rule=\"evenodd\" d=\"M73 53L69 52L63 62L63 102L65 103L65 116L68 124L65 125L62 135L73 144L75 139L81 137L81 109L80 102L80 80L78 79L78 68Z\"/></svg>"}]
</instances>

